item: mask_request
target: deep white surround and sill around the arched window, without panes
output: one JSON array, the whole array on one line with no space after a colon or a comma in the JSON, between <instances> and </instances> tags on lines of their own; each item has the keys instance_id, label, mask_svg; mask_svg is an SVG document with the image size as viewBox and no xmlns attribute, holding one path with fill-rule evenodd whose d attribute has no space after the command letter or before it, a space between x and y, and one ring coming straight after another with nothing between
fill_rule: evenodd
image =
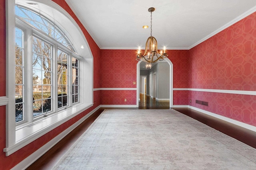
<instances>
[{"instance_id":1,"label":"deep white surround and sill around the arched window, without panes","mask_svg":"<svg viewBox=\"0 0 256 170\"><path fill-rule=\"evenodd\" d=\"M22 3L20 0L16 1L18 4ZM76 104L74 107L61 109L58 113L52 114L43 120L38 119L27 123L25 126L16 128L14 107L15 90L13 90L15 89L15 0L6 0L6 97L8 98L8 104L6 105L6 148L4 148L6 156L16 152L93 106L93 57L83 31L68 12L52 0L35 1L40 3L40 6L44 8L39 10L44 10L40 12L45 12L47 18L51 18L51 16L47 16L47 10L55 9L52 10L52 12L55 12L56 16L59 17L55 19L62 21L62 23L58 23L59 25L57 26L60 27L60 29L65 28L66 32L64 33L72 43L74 42L74 48L78 53L76 57L81 56L79 59L80 84L86 88L79 86L80 103ZM26 8L26 6L24 7ZM81 45L86 48L81 49ZM57 49L58 48L61 48L61 45L58 45ZM81 72L83 74L81 74Z\"/></svg>"}]
</instances>

